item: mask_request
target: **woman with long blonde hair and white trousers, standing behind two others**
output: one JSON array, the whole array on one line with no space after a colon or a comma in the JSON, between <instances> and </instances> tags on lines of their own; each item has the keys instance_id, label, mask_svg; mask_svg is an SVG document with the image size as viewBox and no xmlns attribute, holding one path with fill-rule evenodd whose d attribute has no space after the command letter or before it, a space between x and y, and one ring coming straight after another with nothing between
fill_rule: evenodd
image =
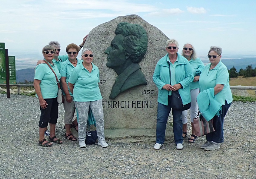
<instances>
[{"instance_id":1,"label":"woman with long blonde hair and white trousers, standing behind two others","mask_svg":"<svg viewBox=\"0 0 256 179\"><path fill-rule=\"evenodd\" d=\"M198 105L196 102L196 98L199 93L198 80L201 72L204 69L204 64L200 58L197 58L194 47L189 43L183 46L181 55L187 58L187 60L189 61L189 64L192 68L193 75L194 75L194 80L189 85L190 96L191 96L190 121L191 121L192 132L191 132L191 137L188 139L188 142L194 143L195 140L197 139L197 136L195 135L195 131L194 131L193 119L196 118L198 114ZM182 124L183 124L182 137L184 138L187 137L187 124L188 124L187 115L188 115L188 110L183 111L181 115Z\"/></svg>"}]
</instances>

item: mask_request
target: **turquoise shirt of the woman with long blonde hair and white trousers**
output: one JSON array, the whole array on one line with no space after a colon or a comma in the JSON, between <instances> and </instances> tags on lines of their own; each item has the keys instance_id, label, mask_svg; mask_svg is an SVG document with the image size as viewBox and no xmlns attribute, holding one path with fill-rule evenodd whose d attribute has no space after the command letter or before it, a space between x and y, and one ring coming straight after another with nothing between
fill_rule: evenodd
<instances>
[{"instance_id":1,"label":"turquoise shirt of the woman with long blonde hair and white trousers","mask_svg":"<svg viewBox=\"0 0 256 179\"><path fill-rule=\"evenodd\" d=\"M202 71L204 69L204 63L201 61L200 58L191 59L189 61L189 64L192 68L194 77L199 76L202 73ZM193 89L197 89L197 88L199 88L199 81L196 81L196 82L192 81L189 85L189 89L193 90Z\"/></svg>"}]
</instances>

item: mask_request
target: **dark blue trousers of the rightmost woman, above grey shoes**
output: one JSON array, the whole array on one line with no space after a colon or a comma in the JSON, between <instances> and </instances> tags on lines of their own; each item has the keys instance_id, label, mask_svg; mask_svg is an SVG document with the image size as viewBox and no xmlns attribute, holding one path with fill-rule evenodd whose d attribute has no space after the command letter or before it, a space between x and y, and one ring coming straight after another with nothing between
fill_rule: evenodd
<instances>
[{"instance_id":1,"label":"dark blue trousers of the rightmost woman, above grey shoes","mask_svg":"<svg viewBox=\"0 0 256 179\"><path fill-rule=\"evenodd\" d=\"M228 104L228 102L225 101L225 104L221 106L220 115L214 116L213 127L215 131L206 134L207 141L209 142L213 141L216 143L224 142L224 134L223 134L224 117L227 114L228 108L230 107L231 103Z\"/></svg>"}]
</instances>

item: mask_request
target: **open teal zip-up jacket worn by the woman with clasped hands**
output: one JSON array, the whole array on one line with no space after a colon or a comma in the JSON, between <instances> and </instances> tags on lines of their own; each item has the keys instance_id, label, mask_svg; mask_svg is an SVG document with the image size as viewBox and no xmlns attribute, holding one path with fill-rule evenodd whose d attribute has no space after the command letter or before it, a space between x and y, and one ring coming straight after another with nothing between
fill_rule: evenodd
<instances>
[{"instance_id":1,"label":"open teal zip-up jacket worn by the woman with clasped hands","mask_svg":"<svg viewBox=\"0 0 256 179\"><path fill-rule=\"evenodd\" d=\"M177 60L178 64L175 67L175 81L176 84L181 83L182 89L179 89L181 100L183 105L191 102L189 85L194 79L192 68L188 60L178 54ZM155 71L153 74L153 81L158 88L158 99L157 101L163 105L168 105L168 91L162 89L166 84L171 84L170 72L169 72L169 55L166 54L162 57L155 66Z\"/></svg>"}]
</instances>

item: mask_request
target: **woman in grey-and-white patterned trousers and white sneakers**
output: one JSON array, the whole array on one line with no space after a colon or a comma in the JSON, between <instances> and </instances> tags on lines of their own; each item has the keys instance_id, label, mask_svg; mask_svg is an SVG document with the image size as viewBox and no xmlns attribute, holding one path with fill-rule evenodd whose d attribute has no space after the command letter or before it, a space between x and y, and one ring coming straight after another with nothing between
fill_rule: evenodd
<instances>
[{"instance_id":1,"label":"woman in grey-and-white patterned trousers and white sneakers","mask_svg":"<svg viewBox=\"0 0 256 179\"><path fill-rule=\"evenodd\" d=\"M96 120L98 145L108 147L104 135L104 116L102 96L99 89L99 69L92 63L93 52L86 48L82 51L83 62L72 71L68 80L70 92L73 94L76 110L78 111L78 140L80 147L86 147L86 124L89 107Z\"/></svg>"}]
</instances>

